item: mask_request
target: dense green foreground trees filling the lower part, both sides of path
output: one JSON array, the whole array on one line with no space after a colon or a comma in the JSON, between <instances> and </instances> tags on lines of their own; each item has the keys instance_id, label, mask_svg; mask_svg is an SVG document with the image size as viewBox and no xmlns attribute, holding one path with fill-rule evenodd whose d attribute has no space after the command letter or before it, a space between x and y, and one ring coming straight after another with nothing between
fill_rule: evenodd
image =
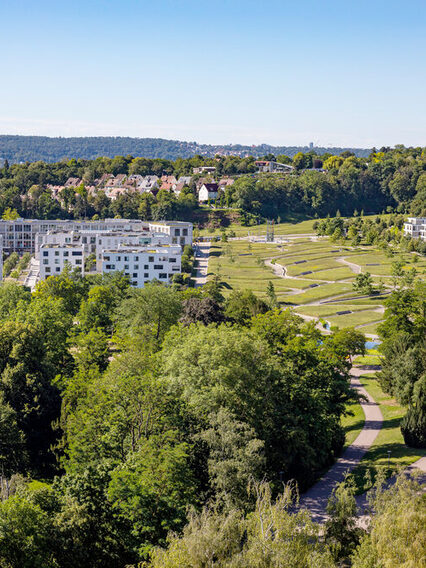
<instances>
[{"instance_id":1,"label":"dense green foreground trees filling the lower part, both sides of path","mask_svg":"<svg viewBox=\"0 0 426 568\"><path fill-rule=\"evenodd\" d=\"M381 381L408 404L406 440L420 445L425 314L424 285L404 285L381 331ZM353 566L379 568L396 566L395 554L418 559L409 543L424 501L412 482L378 490L367 533L355 527L350 484L330 502L325 537L292 506L295 484L310 485L341 451L340 419L355 399L350 361L364 341L353 329L321 336L272 294L268 303L250 291L225 300L218 280L133 289L120 273L65 271L33 294L3 284L0 565L309 568L352 556ZM398 537L387 550L389 515Z\"/></svg>"}]
</instances>

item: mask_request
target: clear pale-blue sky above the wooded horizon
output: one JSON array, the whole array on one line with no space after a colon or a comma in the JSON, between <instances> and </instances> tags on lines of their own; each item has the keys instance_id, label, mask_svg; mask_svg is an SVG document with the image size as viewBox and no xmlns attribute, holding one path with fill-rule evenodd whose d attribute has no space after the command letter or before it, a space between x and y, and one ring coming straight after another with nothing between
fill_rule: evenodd
<instances>
[{"instance_id":1,"label":"clear pale-blue sky above the wooded horizon","mask_svg":"<svg viewBox=\"0 0 426 568\"><path fill-rule=\"evenodd\" d=\"M0 133L426 144L426 0L0 0Z\"/></svg>"}]
</instances>

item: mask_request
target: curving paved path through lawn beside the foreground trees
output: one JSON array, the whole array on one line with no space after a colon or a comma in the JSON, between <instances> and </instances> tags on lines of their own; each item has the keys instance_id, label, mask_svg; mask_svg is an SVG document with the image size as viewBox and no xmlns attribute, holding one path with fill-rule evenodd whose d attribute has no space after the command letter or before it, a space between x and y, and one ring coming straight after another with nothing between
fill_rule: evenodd
<instances>
[{"instance_id":1,"label":"curving paved path through lawn beside the foreground trees","mask_svg":"<svg viewBox=\"0 0 426 568\"><path fill-rule=\"evenodd\" d=\"M316 522L321 523L326 520L327 501L332 490L338 483L344 480L348 471L353 470L355 466L358 465L382 427L383 416L380 412L379 405L359 382L360 375L368 372L375 371L366 371L364 369L357 369L356 367L351 369L351 385L367 399L366 401L360 401L365 414L364 428L361 430L354 443L345 450L342 457L331 466L324 477L300 497L300 508L309 509L313 520Z\"/></svg>"}]
</instances>

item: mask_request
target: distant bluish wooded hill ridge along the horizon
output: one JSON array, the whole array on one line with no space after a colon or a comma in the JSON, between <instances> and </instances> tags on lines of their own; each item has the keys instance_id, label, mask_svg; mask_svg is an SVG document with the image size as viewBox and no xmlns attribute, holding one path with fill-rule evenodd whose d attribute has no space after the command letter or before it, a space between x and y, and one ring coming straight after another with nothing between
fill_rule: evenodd
<instances>
[{"instance_id":1,"label":"distant bluish wooded hill ridge along the horizon","mask_svg":"<svg viewBox=\"0 0 426 568\"><path fill-rule=\"evenodd\" d=\"M367 157L370 149L365 148L314 148L315 154L330 153L338 155L349 150L357 157ZM213 157L216 154L240 156L265 156L267 154L286 154L293 157L297 152L309 151L308 146L243 146L229 144L225 146L181 142L163 138L128 138L114 136L50 138L47 136L0 135L0 160L10 163L57 162L62 159L85 158L92 160L99 156L144 156L176 160L190 158L197 154Z\"/></svg>"}]
</instances>

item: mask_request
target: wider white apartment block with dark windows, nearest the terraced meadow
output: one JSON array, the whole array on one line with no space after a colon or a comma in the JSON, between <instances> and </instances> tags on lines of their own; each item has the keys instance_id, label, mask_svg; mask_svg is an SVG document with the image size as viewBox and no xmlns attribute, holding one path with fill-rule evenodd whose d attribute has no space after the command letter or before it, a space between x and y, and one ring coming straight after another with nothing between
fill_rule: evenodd
<instances>
[{"instance_id":1,"label":"wider white apartment block with dark windows, nearest the terraced meadow","mask_svg":"<svg viewBox=\"0 0 426 568\"><path fill-rule=\"evenodd\" d=\"M123 271L137 288L151 280L170 283L181 271L181 256L182 248L176 245L121 246L102 252L102 272Z\"/></svg>"}]
</instances>

